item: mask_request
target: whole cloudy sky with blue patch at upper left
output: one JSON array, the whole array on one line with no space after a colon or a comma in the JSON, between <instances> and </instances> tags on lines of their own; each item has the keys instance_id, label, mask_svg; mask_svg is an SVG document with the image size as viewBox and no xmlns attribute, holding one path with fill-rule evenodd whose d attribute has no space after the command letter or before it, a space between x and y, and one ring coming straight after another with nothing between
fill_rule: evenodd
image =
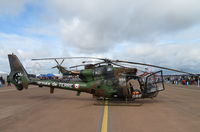
<instances>
[{"instance_id":1,"label":"whole cloudy sky with blue patch at upper left","mask_svg":"<svg viewBox=\"0 0 200 132\"><path fill-rule=\"evenodd\" d=\"M0 0L0 71L8 53L29 72L55 65L32 58L94 56L200 73L200 1Z\"/></svg>"}]
</instances>

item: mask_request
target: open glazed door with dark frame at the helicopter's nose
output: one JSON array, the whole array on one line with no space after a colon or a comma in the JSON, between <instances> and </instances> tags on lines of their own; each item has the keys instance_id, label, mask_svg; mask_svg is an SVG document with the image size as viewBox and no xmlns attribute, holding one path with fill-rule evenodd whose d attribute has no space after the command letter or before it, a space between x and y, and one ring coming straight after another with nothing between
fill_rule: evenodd
<instances>
[{"instance_id":1,"label":"open glazed door with dark frame at the helicopter's nose","mask_svg":"<svg viewBox=\"0 0 200 132\"><path fill-rule=\"evenodd\" d=\"M162 71L154 72L147 76L145 87L147 93L163 91L165 88Z\"/></svg>"}]
</instances>

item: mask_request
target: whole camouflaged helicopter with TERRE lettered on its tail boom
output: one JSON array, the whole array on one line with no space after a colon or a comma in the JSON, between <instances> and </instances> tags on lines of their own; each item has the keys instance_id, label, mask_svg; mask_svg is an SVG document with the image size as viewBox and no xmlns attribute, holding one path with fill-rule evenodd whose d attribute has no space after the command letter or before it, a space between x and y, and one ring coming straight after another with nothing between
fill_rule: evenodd
<instances>
[{"instance_id":1,"label":"whole camouflaged helicopter with TERRE lettered on its tail boom","mask_svg":"<svg viewBox=\"0 0 200 132\"><path fill-rule=\"evenodd\" d=\"M79 78L79 80L69 79L61 81L59 79L33 78L26 72L16 55L9 54L8 59L11 69L9 78L18 90L27 89L28 85L37 85L39 87L49 87L50 93L54 93L54 89L58 88L76 91L78 96L81 92L86 92L92 94L94 97L103 99L135 100L140 98L153 98L156 97L160 91L165 89L162 70L157 72L144 72L143 74L138 75L137 68L126 67L123 64L150 66L159 69L191 74L151 64L104 58L65 57L35 59L53 59L56 61L58 59L63 59L63 61L64 59L97 59L100 61L96 64L84 65L85 68L82 70L66 70L58 64L56 67L64 75L69 75L70 77L76 76Z\"/></svg>"}]
</instances>

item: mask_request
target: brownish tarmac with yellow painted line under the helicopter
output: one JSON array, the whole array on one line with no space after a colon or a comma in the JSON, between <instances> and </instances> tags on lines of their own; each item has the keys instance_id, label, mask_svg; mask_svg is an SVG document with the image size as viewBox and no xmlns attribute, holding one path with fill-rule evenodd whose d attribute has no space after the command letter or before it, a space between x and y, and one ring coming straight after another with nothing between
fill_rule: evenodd
<instances>
[{"instance_id":1,"label":"brownish tarmac with yellow painted line under the helicopter","mask_svg":"<svg viewBox=\"0 0 200 132\"><path fill-rule=\"evenodd\" d=\"M141 106L107 108L90 94L0 88L0 132L199 132L200 87L165 86L158 97L136 101Z\"/></svg>"}]
</instances>

